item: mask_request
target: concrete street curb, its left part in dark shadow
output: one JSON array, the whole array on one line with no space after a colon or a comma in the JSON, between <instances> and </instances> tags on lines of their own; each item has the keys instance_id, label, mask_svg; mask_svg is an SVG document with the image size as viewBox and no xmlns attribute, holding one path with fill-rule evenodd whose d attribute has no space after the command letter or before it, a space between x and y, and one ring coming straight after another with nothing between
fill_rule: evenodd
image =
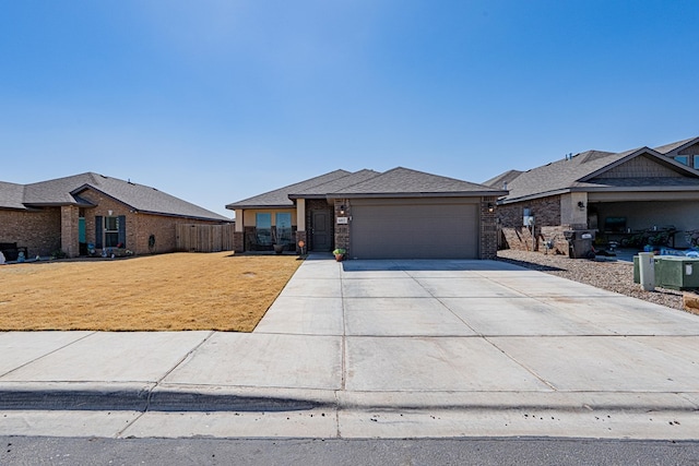
<instances>
[{"instance_id":1,"label":"concrete street curb, its left part in dark shadow","mask_svg":"<svg viewBox=\"0 0 699 466\"><path fill-rule=\"evenodd\" d=\"M699 393L333 392L251 387L0 387L0 410L295 411L490 410L699 411Z\"/></svg>"}]
</instances>

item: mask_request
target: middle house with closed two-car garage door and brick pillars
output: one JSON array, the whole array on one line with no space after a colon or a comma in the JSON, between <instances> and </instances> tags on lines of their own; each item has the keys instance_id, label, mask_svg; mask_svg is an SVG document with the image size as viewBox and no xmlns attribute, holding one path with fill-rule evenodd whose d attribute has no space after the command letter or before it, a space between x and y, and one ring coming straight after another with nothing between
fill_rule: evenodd
<instances>
[{"instance_id":1,"label":"middle house with closed two-car garage door and brick pillars","mask_svg":"<svg viewBox=\"0 0 699 466\"><path fill-rule=\"evenodd\" d=\"M501 189L398 167L335 170L234 202L236 251L283 244L352 259L491 259Z\"/></svg>"}]
</instances>

